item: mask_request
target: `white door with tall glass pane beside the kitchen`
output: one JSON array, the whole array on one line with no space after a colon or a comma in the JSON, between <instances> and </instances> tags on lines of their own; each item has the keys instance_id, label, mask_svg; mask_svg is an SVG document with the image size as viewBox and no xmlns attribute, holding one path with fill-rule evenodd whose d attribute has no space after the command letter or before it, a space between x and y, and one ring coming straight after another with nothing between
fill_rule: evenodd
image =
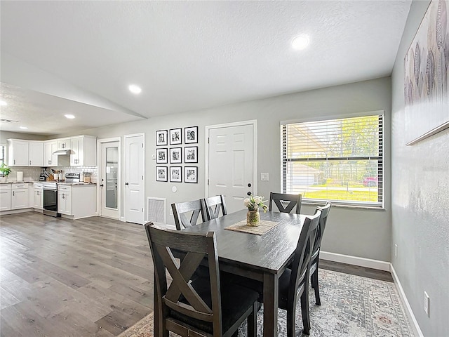
<instances>
[{"instance_id":1,"label":"white door with tall glass pane beside the kitchen","mask_svg":"<svg viewBox=\"0 0 449 337\"><path fill-rule=\"evenodd\" d=\"M119 220L120 143L101 143L101 216Z\"/></svg>"}]
</instances>

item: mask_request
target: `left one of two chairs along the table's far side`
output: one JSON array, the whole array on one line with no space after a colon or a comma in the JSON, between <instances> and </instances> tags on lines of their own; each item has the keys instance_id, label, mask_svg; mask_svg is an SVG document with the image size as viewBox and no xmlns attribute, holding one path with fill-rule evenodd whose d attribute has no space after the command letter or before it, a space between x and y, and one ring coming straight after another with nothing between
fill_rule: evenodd
<instances>
[{"instance_id":1,"label":"left one of two chairs along the table's far side","mask_svg":"<svg viewBox=\"0 0 449 337\"><path fill-rule=\"evenodd\" d=\"M206 221L204 199L171 204L171 209L173 210L177 230L184 230L187 227L196 225L200 214L201 222ZM190 218L187 215L190 215Z\"/></svg>"}]
</instances>

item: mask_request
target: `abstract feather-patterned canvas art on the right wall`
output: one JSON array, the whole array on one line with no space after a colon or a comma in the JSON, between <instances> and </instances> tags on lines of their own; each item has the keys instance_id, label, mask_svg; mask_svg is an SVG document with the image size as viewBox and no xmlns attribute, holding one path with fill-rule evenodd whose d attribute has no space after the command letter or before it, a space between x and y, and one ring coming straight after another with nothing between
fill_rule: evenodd
<instances>
[{"instance_id":1,"label":"abstract feather-patterned canvas art on the right wall","mask_svg":"<svg viewBox=\"0 0 449 337\"><path fill-rule=\"evenodd\" d=\"M449 0L432 0L404 60L408 145L449 127Z\"/></svg>"}]
</instances>

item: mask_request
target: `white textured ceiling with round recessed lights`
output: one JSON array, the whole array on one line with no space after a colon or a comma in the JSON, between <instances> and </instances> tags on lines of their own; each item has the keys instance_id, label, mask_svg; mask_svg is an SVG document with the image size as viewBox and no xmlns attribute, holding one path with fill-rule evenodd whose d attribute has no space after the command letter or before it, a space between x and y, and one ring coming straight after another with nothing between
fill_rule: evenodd
<instances>
[{"instance_id":1,"label":"white textured ceiling with round recessed lights","mask_svg":"<svg viewBox=\"0 0 449 337\"><path fill-rule=\"evenodd\" d=\"M2 82L69 100L77 100L70 90L76 86L119 107L110 111L138 119L387 76L410 1L0 6L1 53L58 77L60 85L58 93L30 88L29 72L8 65L3 55ZM309 48L291 48L297 34L309 34ZM142 87L140 95L128 91L131 83ZM2 107L2 118L6 112ZM20 113L26 116L27 109Z\"/></svg>"}]
</instances>

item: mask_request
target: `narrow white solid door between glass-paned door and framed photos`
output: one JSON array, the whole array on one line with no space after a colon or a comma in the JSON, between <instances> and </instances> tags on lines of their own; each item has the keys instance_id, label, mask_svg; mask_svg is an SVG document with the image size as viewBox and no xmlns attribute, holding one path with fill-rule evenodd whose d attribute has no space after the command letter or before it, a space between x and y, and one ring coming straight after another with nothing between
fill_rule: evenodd
<instances>
[{"instance_id":1,"label":"narrow white solid door between glass-paned door and framed photos","mask_svg":"<svg viewBox=\"0 0 449 337\"><path fill-rule=\"evenodd\" d=\"M145 220L145 148L144 136L125 136L126 222L143 224Z\"/></svg>"}]
</instances>

